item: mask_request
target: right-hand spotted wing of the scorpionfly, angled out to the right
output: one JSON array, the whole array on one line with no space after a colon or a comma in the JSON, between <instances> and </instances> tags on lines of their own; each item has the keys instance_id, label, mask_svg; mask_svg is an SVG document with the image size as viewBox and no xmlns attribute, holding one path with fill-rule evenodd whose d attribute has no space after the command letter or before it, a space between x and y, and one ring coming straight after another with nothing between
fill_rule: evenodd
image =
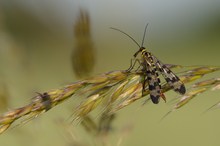
<instances>
[{"instance_id":1,"label":"right-hand spotted wing of the scorpionfly, angled out to the right","mask_svg":"<svg viewBox=\"0 0 220 146\"><path fill-rule=\"evenodd\" d=\"M166 82L173 88L174 91L185 94L186 88L183 82L176 76L166 65L159 61L155 56L152 56L157 69L161 72Z\"/></svg>"}]
</instances>

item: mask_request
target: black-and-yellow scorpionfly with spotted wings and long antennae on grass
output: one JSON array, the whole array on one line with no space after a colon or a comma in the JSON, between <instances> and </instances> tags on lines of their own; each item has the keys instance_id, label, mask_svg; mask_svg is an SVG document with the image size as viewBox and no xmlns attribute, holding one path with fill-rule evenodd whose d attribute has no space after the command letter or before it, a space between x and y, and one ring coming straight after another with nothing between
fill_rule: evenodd
<instances>
[{"instance_id":1,"label":"black-and-yellow scorpionfly with spotted wings and long antennae on grass","mask_svg":"<svg viewBox=\"0 0 220 146\"><path fill-rule=\"evenodd\" d=\"M179 79L177 75L175 75L165 64L163 64L159 59L157 59L153 54L147 51L145 47L143 47L145 34L147 30L148 24L145 26L143 40L141 46L135 41L130 35L127 33L121 31L117 28L112 28L113 30L119 31L126 36L128 36L130 39L132 39L135 44L138 45L139 50L134 54L134 58L136 59L137 55L141 53L141 60L136 59L137 62L140 63L142 67L142 71L144 73L144 81L143 81L143 91L146 90L146 83L148 84L148 89L150 91L150 98L151 101L154 104L158 104L160 97L166 101L165 95L162 93L161 90L161 82L159 78L159 73L162 74L166 82L169 84L170 87L179 94L185 94L186 88L183 84L183 82ZM135 64L135 63L134 63ZM131 67L128 70L133 69L133 66L131 64Z\"/></svg>"}]
</instances>

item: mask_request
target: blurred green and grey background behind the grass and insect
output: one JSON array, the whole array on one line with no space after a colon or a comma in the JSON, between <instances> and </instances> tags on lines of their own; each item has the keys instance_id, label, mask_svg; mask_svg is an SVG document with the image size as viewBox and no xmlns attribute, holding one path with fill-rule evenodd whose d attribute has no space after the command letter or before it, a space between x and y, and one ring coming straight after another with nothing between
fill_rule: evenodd
<instances>
[{"instance_id":1,"label":"blurred green and grey background behind the grass and insect","mask_svg":"<svg viewBox=\"0 0 220 146\"><path fill-rule=\"evenodd\" d=\"M77 80L70 57L75 41L73 24L80 9L89 12L96 49L91 76L127 69L138 49L130 39L109 27L119 28L141 42L146 23L149 27L144 46L162 62L220 65L218 0L1 0L0 87L8 94L8 108L1 109L2 113L27 104L35 92ZM137 102L118 112L113 130L118 134L112 139L116 143L120 129L132 125L121 145L219 146L220 111L202 114L219 101L219 95L218 91L204 93L162 122L159 121L171 104L141 106L142 102ZM169 92L166 96L177 95ZM76 103L70 99L38 119L7 131L0 136L0 145L67 146L71 140L57 123L68 123L65 121L73 104ZM72 130L80 140L91 141L77 128Z\"/></svg>"}]
</instances>

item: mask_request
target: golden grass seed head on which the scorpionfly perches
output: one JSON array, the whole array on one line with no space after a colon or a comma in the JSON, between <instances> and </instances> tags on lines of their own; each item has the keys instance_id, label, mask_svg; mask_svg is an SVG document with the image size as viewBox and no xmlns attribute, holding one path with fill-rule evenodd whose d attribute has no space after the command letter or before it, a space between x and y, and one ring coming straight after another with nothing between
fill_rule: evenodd
<instances>
[{"instance_id":1,"label":"golden grass seed head on which the scorpionfly perches","mask_svg":"<svg viewBox=\"0 0 220 146\"><path fill-rule=\"evenodd\" d=\"M208 73L219 70L217 67L210 66L170 66L170 68L177 67L183 69L188 68L179 75L184 84L193 82ZM31 120L56 105L61 104L70 97L83 97L83 101L79 103L74 111L73 120L81 120L84 127L87 126L87 129L90 129L90 131L94 131L92 129L96 129L96 131L97 129L99 131L103 131L100 129L106 130L108 129L106 127L108 127L112 119L114 119L114 114L118 110L149 94L149 90L143 90L142 83L143 73L139 71L112 71L74 82L60 89L47 91L43 94L39 93L33 97L31 102L26 106L12 109L0 116L0 133L6 131L17 119L23 118L24 122ZM188 87L187 93L180 98L173 109L184 106L196 95L207 91L211 87L212 89L219 89L219 85L219 78L194 83ZM162 90L163 92L167 92L171 90L171 87L164 83ZM92 120L89 119L89 113L101 104L104 105L102 115L100 116L100 121L103 122L95 126L95 124L92 124Z\"/></svg>"}]
</instances>

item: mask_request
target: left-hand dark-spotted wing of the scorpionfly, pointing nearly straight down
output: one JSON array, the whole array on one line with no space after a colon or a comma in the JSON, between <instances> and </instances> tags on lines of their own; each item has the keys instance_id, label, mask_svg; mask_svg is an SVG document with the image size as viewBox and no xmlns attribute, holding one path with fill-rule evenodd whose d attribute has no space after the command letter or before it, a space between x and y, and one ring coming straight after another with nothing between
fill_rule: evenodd
<instances>
[{"instance_id":1,"label":"left-hand dark-spotted wing of the scorpionfly, pointing nearly straight down","mask_svg":"<svg viewBox=\"0 0 220 146\"><path fill-rule=\"evenodd\" d=\"M154 104L158 104L160 97L162 97L165 100L165 96L161 92L160 79L158 77L159 75L157 73L156 66L154 64L149 64L146 60L144 65L147 77L144 82L148 83L150 98L152 102Z\"/></svg>"}]
</instances>

